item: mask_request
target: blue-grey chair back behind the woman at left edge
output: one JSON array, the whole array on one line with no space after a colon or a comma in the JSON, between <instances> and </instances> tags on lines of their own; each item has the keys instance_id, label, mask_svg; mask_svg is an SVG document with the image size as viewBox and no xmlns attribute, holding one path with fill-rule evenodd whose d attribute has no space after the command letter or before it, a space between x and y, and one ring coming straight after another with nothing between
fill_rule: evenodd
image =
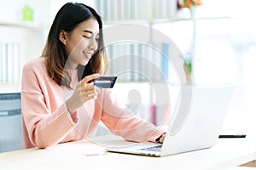
<instances>
[{"instance_id":1,"label":"blue-grey chair back behind the woman at left edge","mask_svg":"<svg viewBox=\"0 0 256 170\"><path fill-rule=\"evenodd\" d=\"M0 153L20 150L20 93L0 94Z\"/></svg>"}]
</instances>

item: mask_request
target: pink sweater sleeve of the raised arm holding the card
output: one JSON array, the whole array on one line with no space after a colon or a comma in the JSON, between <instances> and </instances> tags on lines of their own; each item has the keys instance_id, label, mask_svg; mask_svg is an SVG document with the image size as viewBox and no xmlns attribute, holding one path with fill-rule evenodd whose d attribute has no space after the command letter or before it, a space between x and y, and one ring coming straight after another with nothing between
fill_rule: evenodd
<instances>
[{"instance_id":1,"label":"pink sweater sleeve of the raised arm holding the card","mask_svg":"<svg viewBox=\"0 0 256 170\"><path fill-rule=\"evenodd\" d=\"M38 75L31 67L25 65L22 74L22 119L30 142L38 148L45 148L60 143L73 129L74 122L65 102L55 111L50 111L45 101L45 95L48 94L42 91L45 80L39 81L44 74Z\"/></svg>"}]
</instances>

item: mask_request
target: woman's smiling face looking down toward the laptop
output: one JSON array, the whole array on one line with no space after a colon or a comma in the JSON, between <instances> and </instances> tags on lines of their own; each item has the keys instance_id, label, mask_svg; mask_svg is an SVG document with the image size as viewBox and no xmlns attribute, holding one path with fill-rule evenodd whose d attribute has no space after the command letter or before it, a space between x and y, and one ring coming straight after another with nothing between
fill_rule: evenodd
<instances>
[{"instance_id":1,"label":"woman's smiling face looking down toward the laptop","mask_svg":"<svg viewBox=\"0 0 256 170\"><path fill-rule=\"evenodd\" d=\"M73 31L66 32L67 67L76 69L78 65L87 65L98 48L98 40L99 24L94 18L84 20Z\"/></svg>"}]
</instances>

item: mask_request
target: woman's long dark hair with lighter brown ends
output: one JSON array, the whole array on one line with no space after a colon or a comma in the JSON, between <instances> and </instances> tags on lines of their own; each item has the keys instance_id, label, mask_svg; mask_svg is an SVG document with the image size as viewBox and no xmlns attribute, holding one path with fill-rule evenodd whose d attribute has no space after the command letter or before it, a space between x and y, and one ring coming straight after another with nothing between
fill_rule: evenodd
<instances>
[{"instance_id":1,"label":"woman's long dark hair with lighter brown ends","mask_svg":"<svg viewBox=\"0 0 256 170\"><path fill-rule=\"evenodd\" d=\"M64 69L68 56L64 44L59 39L59 35L61 31L73 31L79 23L90 18L95 18L99 24L98 48L87 65L79 65L79 80L92 73L105 74L108 70L108 57L104 48L100 15L96 13L95 9L83 3L66 3L55 16L42 54L42 57L46 58L49 77L59 85L71 88L71 77Z\"/></svg>"}]
</instances>

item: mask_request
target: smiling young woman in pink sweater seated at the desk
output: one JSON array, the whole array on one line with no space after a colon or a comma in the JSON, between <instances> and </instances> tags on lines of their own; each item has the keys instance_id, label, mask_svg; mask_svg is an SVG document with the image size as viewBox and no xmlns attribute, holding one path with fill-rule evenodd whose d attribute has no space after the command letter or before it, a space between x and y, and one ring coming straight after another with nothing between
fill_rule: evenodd
<instances>
[{"instance_id":1,"label":"smiling young woman in pink sweater seated at the desk","mask_svg":"<svg viewBox=\"0 0 256 170\"><path fill-rule=\"evenodd\" d=\"M42 57L23 68L22 149L89 138L100 121L126 140L161 142L162 131L123 109L111 89L91 83L107 65L101 17L82 3L66 3Z\"/></svg>"}]
</instances>

